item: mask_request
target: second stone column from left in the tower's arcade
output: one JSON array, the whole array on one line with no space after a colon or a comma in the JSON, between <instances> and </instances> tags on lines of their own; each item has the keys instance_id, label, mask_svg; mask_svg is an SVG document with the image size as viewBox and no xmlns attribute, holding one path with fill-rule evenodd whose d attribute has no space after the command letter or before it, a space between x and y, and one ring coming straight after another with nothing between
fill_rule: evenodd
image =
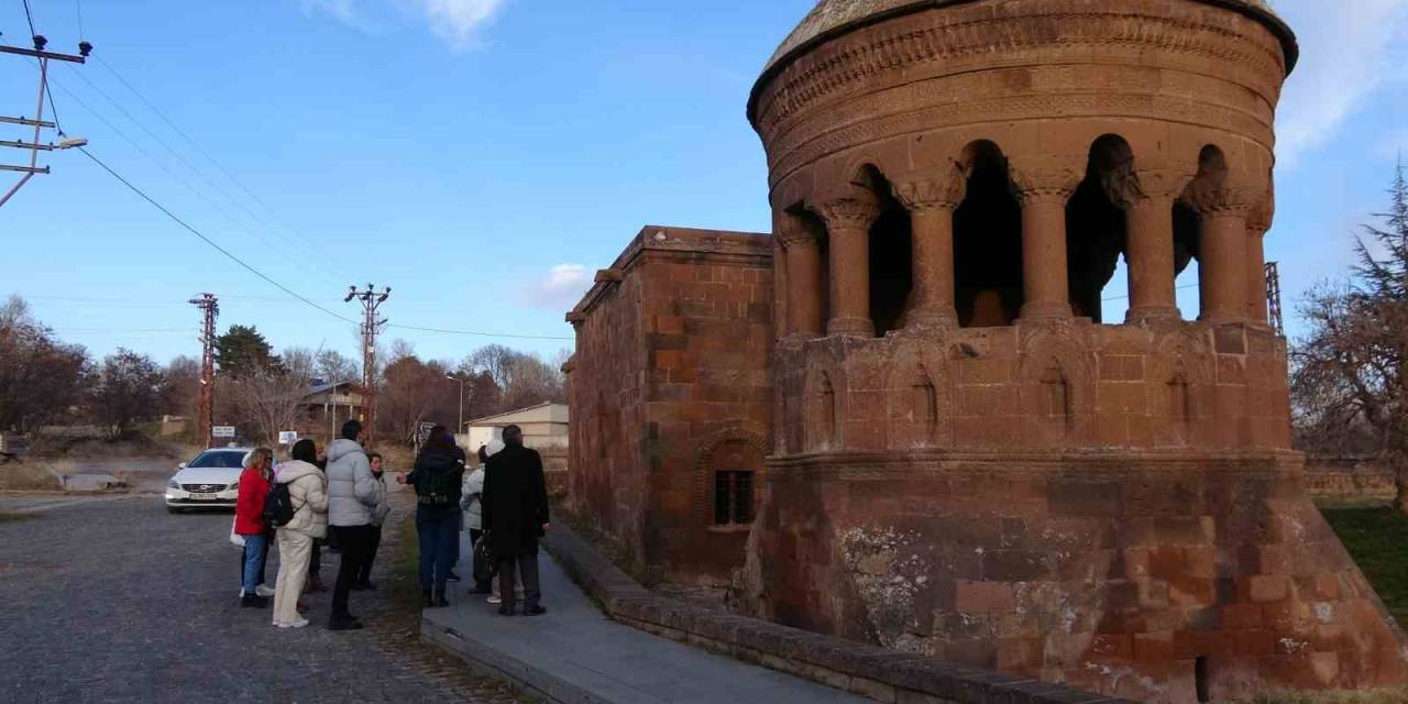
<instances>
[{"instance_id":1,"label":"second stone column from left in the tower's arcade","mask_svg":"<svg viewBox=\"0 0 1408 704\"><path fill-rule=\"evenodd\" d=\"M870 338L870 225L880 217L873 200L839 199L818 211L826 221L831 259L831 321L828 335Z\"/></svg>"}]
</instances>

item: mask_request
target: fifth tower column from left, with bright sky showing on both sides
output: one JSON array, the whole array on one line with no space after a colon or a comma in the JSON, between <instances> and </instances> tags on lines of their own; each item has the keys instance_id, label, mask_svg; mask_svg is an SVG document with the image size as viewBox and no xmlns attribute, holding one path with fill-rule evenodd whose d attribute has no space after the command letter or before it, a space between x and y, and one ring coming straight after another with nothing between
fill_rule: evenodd
<instances>
[{"instance_id":1,"label":"fifth tower column from left, with bright sky showing on both sides","mask_svg":"<svg viewBox=\"0 0 1408 704\"><path fill-rule=\"evenodd\" d=\"M1166 169L1139 170L1132 176L1124 184L1111 184L1111 196L1124 206L1128 232L1129 313L1125 322L1178 320L1173 204L1186 176Z\"/></svg>"}]
</instances>

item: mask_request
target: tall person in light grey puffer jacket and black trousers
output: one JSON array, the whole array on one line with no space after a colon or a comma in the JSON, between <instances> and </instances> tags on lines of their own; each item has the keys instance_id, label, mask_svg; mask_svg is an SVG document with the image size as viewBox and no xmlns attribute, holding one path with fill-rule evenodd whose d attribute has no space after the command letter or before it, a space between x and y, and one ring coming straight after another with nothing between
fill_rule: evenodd
<instances>
[{"instance_id":1,"label":"tall person in light grey puffer jacket and black trousers","mask_svg":"<svg viewBox=\"0 0 1408 704\"><path fill-rule=\"evenodd\" d=\"M372 513L380 494L366 452L356 441L360 434L362 424L348 421L342 425L342 439L328 445L328 525L342 548L342 566L332 587L329 631L362 628L348 610L348 594L362 574L362 565L370 559L375 539Z\"/></svg>"}]
</instances>

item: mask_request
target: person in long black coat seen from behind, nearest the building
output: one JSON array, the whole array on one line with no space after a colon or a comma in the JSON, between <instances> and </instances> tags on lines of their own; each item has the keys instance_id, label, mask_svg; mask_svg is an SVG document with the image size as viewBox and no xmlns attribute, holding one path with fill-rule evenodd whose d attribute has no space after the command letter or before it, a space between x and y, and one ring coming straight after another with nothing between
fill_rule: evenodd
<instances>
[{"instance_id":1,"label":"person in long black coat seen from behind, nearest the building","mask_svg":"<svg viewBox=\"0 0 1408 704\"><path fill-rule=\"evenodd\" d=\"M489 458L482 500L484 531L498 560L498 593L504 600L498 612L514 614L514 573L522 572L524 615L545 614L539 603L538 538L548 531L548 482L542 456L524 446L517 425L504 428L504 449Z\"/></svg>"}]
</instances>

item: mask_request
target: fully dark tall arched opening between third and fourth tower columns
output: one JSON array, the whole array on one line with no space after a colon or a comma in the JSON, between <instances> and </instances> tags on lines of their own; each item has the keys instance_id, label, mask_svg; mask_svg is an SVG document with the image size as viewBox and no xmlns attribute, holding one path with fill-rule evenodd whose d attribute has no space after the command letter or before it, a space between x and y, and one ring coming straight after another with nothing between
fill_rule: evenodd
<instances>
[{"instance_id":1,"label":"fully dark tall arched opening between third and fourth tower columns","mask_svg":"<svg viewBox=\"0 0 1408 704\"><path fill-rule=\"evenodd\" d=\"M1007 158L988 141L963 151L967 197L953 213L953 268L959 324L1011 325L1022 310L1022 208Z\"/></svg>"}]
</instances>

